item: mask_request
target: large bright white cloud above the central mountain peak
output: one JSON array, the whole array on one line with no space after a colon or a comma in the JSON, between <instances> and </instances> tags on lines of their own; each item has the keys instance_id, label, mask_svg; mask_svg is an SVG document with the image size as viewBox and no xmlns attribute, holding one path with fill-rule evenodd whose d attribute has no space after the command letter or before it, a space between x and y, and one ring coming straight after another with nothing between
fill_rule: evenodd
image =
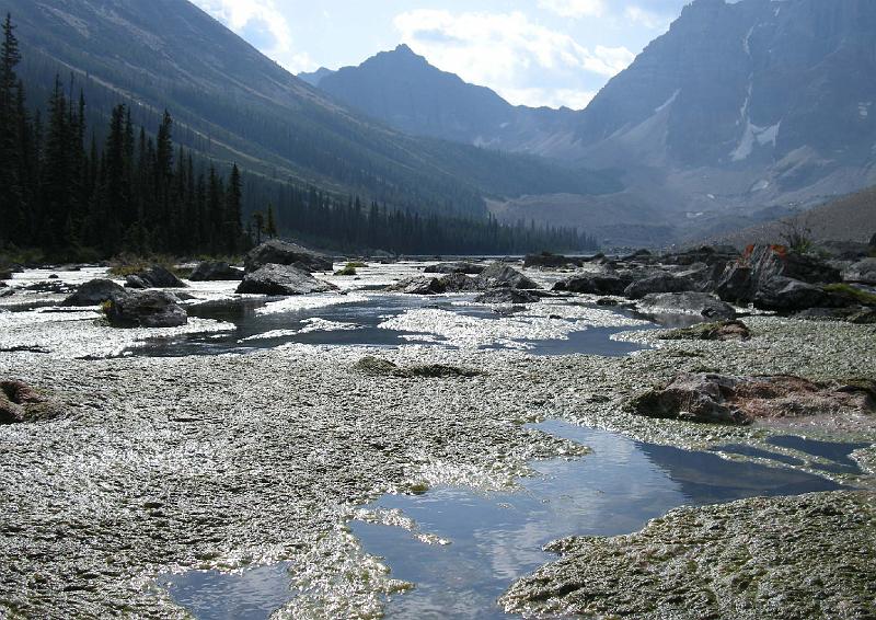
<instances>
[{"instance_id":1,"label":"large bright white cloud above the central mountain peak","mask_svg":"<svg viewBox=\"0 0 876 620\"><path fill-rule=\"evenodd\" d=\"M489 87L511 103L583 107L589 91L532 84L545 79L576 84L583 71L612 77L634 58L625 47L588 49L567 34L529 21L519 11L453 14L423 9L396 15L394 25L402 41L435 66L468 82ZM539 93L545 96L537 100Z\"/></svg>"}]
</instances>

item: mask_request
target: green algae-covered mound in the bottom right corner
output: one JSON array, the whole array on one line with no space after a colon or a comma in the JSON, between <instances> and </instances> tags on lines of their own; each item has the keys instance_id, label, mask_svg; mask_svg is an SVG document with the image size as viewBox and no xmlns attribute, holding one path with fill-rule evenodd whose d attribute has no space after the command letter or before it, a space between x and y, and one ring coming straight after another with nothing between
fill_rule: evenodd
<instances>
[{"instance_id":1,"label":"green algae-covered mound in the bottom right corner","mask_svg":"<svg viewBox=\"0 0 876 620\"><path fill-rule=\"evenodd\" d=\"M577 537L502 597L527 617L872 618L876 494L683 507L642 531Z\"/></svg>"}]
</instances>

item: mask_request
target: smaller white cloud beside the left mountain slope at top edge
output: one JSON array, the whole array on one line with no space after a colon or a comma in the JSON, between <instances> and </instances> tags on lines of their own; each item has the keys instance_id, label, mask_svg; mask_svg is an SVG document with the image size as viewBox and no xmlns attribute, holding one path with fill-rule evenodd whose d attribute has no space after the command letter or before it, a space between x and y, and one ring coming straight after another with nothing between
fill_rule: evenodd
<instances>
[{"instance_id":1,"label":"smaller white cloud beside the left mountain slope at top edge","mask_svg":"<svg viewBox=\"0 0 876 620\"><path fill-rule=\"evenodd\" d=\"M193 0L204 11L226 24L235 33L250 27L262 28L270 43L260 42L257 47L293 73L312 71L318 65L306 51L293 47L291 28L274 0Z\"/></svg>"}]
</instances>

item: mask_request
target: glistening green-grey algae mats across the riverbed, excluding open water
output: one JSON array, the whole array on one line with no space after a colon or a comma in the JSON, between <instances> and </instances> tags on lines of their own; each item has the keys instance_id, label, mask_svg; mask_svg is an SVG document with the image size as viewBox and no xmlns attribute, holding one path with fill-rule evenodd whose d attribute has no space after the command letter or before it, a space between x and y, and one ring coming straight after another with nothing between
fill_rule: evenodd
<instances>
[{"instance_id":1,"label":"glistening green-grey algae mats across the riverbed, excluding open water","mask_svg":"<svg viewBox=\"0 0 876 620\"><path fill-rule=\"evenodd\" d=\"M327 295L351 296L415 275L420 267L362 269L358 282L320 277L341 288ZM548 272L526 273L543 288L560 279ZM234 286L233 282L192 285L188 292L229 299ZM4 305L18 308L14 303L21 300L13 303L14 298L5 298ZM49 290L28 295L26 303L51 309L62 298L64 294ZM314 297L272 303L306 305L307 299ZM691 449L769 446L796 461L784 467L874 487L876 424L871 414L826 413L721 426L644 417L626 404L679 372L872 380L875 325L754 315L745 318L748 340L664 341L659 338L664 331L645 330L647 324L638 319L615 314L610 321L607 310L580 306L596 299L578 296L532 303L522 314L502 319L507 323L491 324L493 332L486 336L481 330L484 323L460 319L452 308L417 307L387 318L389 326L431 334L433 341L420 338L391 348L287 342L245 354L185 357L110 357L142 346L157 332L115 331L93 310L39 312L21 319L16 312L0 314L7 326L0 335L0 348L7 349L0 353L2 375L25 381L65 410L51 421L0 426L0 612L183 618L186 611L155 581L159 575L288 561L296 596L279 617L377 617L384 595L403 592L410 584L394 579L388 566L368 555L350 533L347 521L357 507L385 493L422 493L439 484L512 489L517 478L531 473L528 463L535 459L566 456L586 461L586 446L526 426L549 418ZM544 356L528 349L526 338L531 333L535 340L545 334L568 337L575 331L569 321L580 321L581 329L643 328L614 338L650 348L618 357ZM503 325L517 332L509 336ZM158 333L172 338L191 332L219 335L229 329L221 320L189 317L187 325ZM443 338L445 346L434 346L435 338ZM462 345L446 346L447 341ZM514 346L491 346L499 341ZM46 352L27 351L28 346ZM373 363L361 364L366 356L396 367L372 371ZM424 368L445 370L413 370ZM860 470L829 472L819 467L827 461L817 455L769 444L771 437L787 435L871 447L852 455ZM766 462L758 456L719 453ZM821 512L806 520L794 506ZM830 519L830 510L844 517ZM839 571L832 573L835 578L816 581L806 571L789 570L776 572L775 578L784 588L805 593L799 600L835 602L837 617L865 617L874 610L874 593L866 586L874 579L861 578L861 571L863 577L873 576L876 536L874 528L865 527L866 519L873 519L873 500L866 491L672 513L642 535L558 544L556 550L565 553L561 562L514 585L504 602L515 611L629 609L649 617L655 611L642 601L660 600L655 593L667 583L683 581L684 569L690 571L690 587L667 601L667 609L679 606L678 613L684 616L680 606L694 601L693 609L728 618L738 610L772 610L769 605L775 600L766 605L758 597L751 600L753 607L740 607L749 600L746 588L746 588L737 586L750 576L753 564L734 563L741 558L736 550L745 547L744 524L762 524L762 537L752 538L758 544L772 544L780 531L797 532L796 538L783 539L776 551L791 558L814 550L814 537L832 533L831 528L842 530L835 544L816 544L823 565ZM726 550L694 553L688 542L701 543L701 531L713 521L726 533L725 538L715 533L716 540L730 541ZM607 584L611 571L626 574L638 562L637 550L645 539L657 541L648 542L657 547L676 546L676 560L667 554L667 561L647 574L633 570L629 582L603 584L598 600L580 587L566 587L580 586L590 575L583 566L603 556L612 558L603 564L604 575L600 573ZM609 547L615 551L607 551ZM849 549L863 553L863 559L846 560ZM846 569L855 574L843 577ZM722 577L727 588L708 590L704 584L710 575L722 570L728 571ZM774 582L763 583L773 587ZM618 598L621 587L630 590L625 602ZM708 592L722 597L721 605L710 602ZM811 609L803 602L797 606L793 596L787 600L788 609L802 613ZM627 607L619 607L621 602Z\"/></svg>"}]
</instances>

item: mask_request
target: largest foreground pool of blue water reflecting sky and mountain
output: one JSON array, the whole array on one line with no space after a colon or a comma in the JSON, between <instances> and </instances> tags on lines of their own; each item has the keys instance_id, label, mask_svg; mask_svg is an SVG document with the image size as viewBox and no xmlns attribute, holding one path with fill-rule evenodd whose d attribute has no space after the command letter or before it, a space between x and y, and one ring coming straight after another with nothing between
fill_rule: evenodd
<instances>
[{"instance_id":1,"label":"largest foreground pool of blue water reflecting sky and mountain","mask_svg":"<svg viewBox=\"0 0 876 620\"><path fill-rule=\"evenodd\" d=\"M351 524L366 551L385 558L394 577L416 584L389 600L388 617L504 618L496 598L552 559L541 551L551 540L633 532L681 505L839 487L803 472L641 444L560 422L538 427L590 446L593 453L535 463L541 475L523 480L518 493L438 487L418 496L384 496L374 504L402 509L422 531L452 544L426 546L399 528Z\"/></svg>"}]
</instances>

